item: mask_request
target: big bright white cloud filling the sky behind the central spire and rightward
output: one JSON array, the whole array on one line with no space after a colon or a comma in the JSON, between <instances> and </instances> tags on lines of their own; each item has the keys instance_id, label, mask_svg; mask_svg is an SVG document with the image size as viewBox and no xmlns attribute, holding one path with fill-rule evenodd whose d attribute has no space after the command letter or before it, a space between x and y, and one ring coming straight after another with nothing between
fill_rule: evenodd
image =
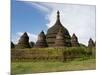
<instances>
[{"instance_id":1,"label":"big bright white cloud filling the sky behind the central spire and rightward","mask_svg":"<svg viewBox=\"0 0 100 75\"><path fill-rule=\"evenodd\" d=\"M45 3L44 3L45 4ZM60 11L61 23L72 36L75 33L80 43L88 44L89 38L95 40L95 6L73 4L45 4L52 8L52 12L46 16L49 22L48 28L56 21L56 12Z\"/></svg>"}]
</instances>

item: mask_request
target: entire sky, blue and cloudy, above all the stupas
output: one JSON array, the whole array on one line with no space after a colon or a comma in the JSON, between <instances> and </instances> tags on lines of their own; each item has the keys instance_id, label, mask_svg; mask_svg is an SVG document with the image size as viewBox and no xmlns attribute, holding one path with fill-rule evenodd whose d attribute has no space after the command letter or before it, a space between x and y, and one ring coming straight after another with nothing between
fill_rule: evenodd
<instances>
[{"instance_id":1,"label":"entire sky, blue and cloudy, above all the stupas","mask_svg":"<svg viewBox=\"0 0 100 75\"><path fill-rule=\"evenodd\" d=\"M38 34L56 21L57 10L60 11L62 25L78 37L79 43L88 44L96 38L95 5L45 3L23 0L11 1L11 41L18 43L20 36L27 32L29 41L36 42Z\"/></svg>"}]
</instances>

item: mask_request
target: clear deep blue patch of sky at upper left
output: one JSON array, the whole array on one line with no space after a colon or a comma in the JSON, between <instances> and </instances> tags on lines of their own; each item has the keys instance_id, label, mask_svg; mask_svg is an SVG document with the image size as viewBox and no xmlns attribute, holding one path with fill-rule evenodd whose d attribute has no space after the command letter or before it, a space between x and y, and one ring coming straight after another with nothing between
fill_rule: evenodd
<instances>
[{"instance_id":1,"label":"clear deep blue patch of sky at upper left","mask_svg":"<svg viewBox=\"0 0 100 75\"><path fill-rule=\"evenodd\" d=\"M41 30L47 31L46 12L41 12L23 1L13 0L11 5L11 34L14 41L18 38L18 32L38 34Z\"/></svg>"}]
</instances>

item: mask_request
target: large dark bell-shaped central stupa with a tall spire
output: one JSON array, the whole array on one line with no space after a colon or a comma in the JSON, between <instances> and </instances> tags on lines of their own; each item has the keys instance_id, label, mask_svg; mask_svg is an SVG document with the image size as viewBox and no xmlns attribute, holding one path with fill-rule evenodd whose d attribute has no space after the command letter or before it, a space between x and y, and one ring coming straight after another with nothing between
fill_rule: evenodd
<instances>
[{"instance_id":1,"label":"large dark bell-shaped central stupa with a tall spire","mask_svg":"<svg viewBox=\"0 0 100 75\"><path fill-rule=\"evenodd\" d=\"M46 35L46 41L47 41L49 47L55 46L54 44L56 41L56 35L58 34L59 30L61 30L61 29L62 29L62 32L65 37L66 46L71 47L71 36L70 36L68 30L61 24L60 13L59 13L59 11L57 11L56 23L51 28L48 29L47 35Z\"/></svg>"}]
</instances>

